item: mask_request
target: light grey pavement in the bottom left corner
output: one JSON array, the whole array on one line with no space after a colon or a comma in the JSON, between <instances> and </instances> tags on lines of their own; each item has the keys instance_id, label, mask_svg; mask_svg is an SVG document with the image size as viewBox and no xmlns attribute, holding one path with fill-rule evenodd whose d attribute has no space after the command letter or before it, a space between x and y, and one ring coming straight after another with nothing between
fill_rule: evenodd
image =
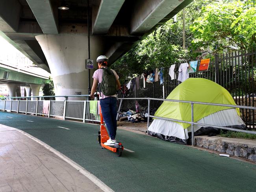
<instances>
[{"instance_id":1,"label":"light grey pavement in the bottom left corner","mask_svg":"<svg viewBox=\"0 0 256 192\"><path fill-rule=\"evenodd\" d=\"M0 138L0 192L102 191L22 131L0 125Z\"/></svg>"}]
</instances>

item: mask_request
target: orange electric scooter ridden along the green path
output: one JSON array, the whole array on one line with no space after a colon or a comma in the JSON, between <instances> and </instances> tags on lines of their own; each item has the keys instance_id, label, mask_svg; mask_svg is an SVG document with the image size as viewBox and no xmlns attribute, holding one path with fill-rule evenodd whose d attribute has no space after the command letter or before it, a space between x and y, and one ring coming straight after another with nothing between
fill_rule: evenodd
<instances>
[{"instance_id":1,"label":"orange electric scooter ridden along the green path","mask_svg":"<svg viewBox=\"0 0 256 192\"><path fill-rule=\"evenodd\" d=\"M100 109L100 131L98 132L98 143L100 144L102 149L108 149L117 153L118 157L121 157L122 151L124 150L124 146L122 146L121 142L116 142L113 146L104 145L105 142L109 139L108 131L104 126L103 116Z\"/></svg>"}]
</instances>

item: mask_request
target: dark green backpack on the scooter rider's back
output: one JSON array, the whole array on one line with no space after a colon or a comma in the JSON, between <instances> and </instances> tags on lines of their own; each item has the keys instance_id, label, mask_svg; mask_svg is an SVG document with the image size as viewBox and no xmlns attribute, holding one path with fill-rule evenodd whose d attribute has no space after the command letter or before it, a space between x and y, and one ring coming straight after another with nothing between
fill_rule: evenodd
<instances>
[{"instance_id":1,"label":"dark green backpack on the scooter rider's back","mask_svg":"<svg viewBox=\"0 0 256 192\"><path fill-rule=\"evenodd\" d=\"M106 96L115 95L117 93L117 81L115 74L109 68L101 68L103 70L102 81L99 84L100 92Z\"/></svg>"}]
</instances>

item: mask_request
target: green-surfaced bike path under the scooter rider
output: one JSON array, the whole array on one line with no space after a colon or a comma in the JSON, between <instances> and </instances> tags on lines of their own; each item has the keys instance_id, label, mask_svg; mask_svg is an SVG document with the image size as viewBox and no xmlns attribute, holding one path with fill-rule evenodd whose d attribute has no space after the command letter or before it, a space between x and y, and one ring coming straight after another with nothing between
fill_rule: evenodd
<instances>
[{"instance_id":1,"label":"green-surfaced bike path under the scooter rider","mask_svg":"<svg viewBox=\"0 0 256 192\"><path fill-rule=\"evenodd\" d=\"M253 164L147 135L118 129L117 140L134 152L117 157L99 147L98 125L7 112L0 112L0 124L42 140L115 192L251 192L256 188Z\"/></svg>"}]
</instances>

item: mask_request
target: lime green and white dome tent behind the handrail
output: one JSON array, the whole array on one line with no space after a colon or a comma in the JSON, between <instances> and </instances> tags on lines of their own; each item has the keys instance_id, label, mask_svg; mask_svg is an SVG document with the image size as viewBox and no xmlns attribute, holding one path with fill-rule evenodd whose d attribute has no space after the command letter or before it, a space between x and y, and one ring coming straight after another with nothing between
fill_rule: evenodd
<instances>
[{"instance_id":1,"label":"lime green and white dome tent behind the handrail","mask_svg":"<svg viewBox=\"0 0 256 192\"><path fill-rule=\"evenodd\" d=\"M186 81L178 85L166 99L236 105L234 99L226 89L221 87L221 85L204 78L187 79ZM191 104L164 101L162 105L158 108L154 116L191 121ZM227 120L225 118L231 118L231 120ZM208 121L210 122L205 122L206 119L208 119ZM240 118L239 108L234 109L231 107L194 104L194 122L198 122L199 120L203 121L205 124L218 126L244 125L243 121ZM170 135L171 132L177 132L177 130L172 129L186 129L187 131L187 128L189 129L189 127L191 127L190 124L171 122L156 118L153 120L148 131L149 135L157 136L157 134L161 134L159 133L159 129L162 129L161 131L165 133L167 133L168 131L164 129L170 129L171 131L168 132L169 135L161 134L161 138L163 136L166 138L172 137L172 135ZM199 126L195 127L200 129ZM185 133L186 136L185 139L188 138L188 136L186 135L186 131L183 131L183 135ZM180 130L178 130L178 132L181 133Z\"/></svg>"}]
</instances>

